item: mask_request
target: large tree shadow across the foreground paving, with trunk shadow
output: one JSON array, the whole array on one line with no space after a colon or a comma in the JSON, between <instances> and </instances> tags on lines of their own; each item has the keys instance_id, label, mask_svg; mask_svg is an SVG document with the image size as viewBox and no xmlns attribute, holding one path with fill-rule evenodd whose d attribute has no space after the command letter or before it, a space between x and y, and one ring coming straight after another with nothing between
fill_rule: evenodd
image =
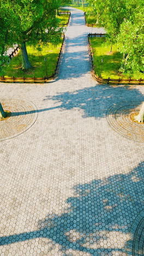
<instances>
[{"instance_id":1,"label":"large tree shadow across the foreground paving, with trunk shadow","mask_svg":"<svg viewBox=\"0 0 144 256\"><path fill-rule=\"evenodd\" d=\"M129 173L77 184L64 213L48 214L39 220L38 230L3 236L0 244L45 237L58 244L63 255L73 255L73 250L95 256L126 255L131 224L143 209L143 170L141 162ZM66 254L69 249L72 253Z\"/></svg>"}]
</instances>

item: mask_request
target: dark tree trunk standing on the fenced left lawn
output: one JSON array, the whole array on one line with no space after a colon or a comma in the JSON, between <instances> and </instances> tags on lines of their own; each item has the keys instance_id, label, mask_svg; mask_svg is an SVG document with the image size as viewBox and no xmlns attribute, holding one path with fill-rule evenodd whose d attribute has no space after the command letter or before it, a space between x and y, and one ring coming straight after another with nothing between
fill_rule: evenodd
<instances>
[{"instance_id":1,"label":"dark tree trunk standing on the fenced left lawn","mask_svg":"<svg viewBox=\"0 0 144 256\"><path fill-rule=\"evenodd\" d=\"M22 57L22 69L27 70L29 68L32 68L31 63L28 60L28 54L27 54L27 48L26 48L25 42L23 42L20 45L20 49L21 49L21 57Z\"/></svg>"}]
</instances>

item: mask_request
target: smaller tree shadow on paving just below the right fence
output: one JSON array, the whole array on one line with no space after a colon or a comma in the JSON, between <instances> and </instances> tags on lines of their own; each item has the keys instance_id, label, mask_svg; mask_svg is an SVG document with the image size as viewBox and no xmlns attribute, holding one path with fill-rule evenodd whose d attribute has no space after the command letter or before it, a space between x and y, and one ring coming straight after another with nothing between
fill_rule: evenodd
<instances>
[{"instance_id":1,"label":"smaller tree shadow on paving just below the right fence","mask_svg":"<svg viewBox=\"0 0 144 256\"><path fill-rule=\"evenodd\" d=\"M74 92L46 96L44 100L53 100L56 103L61 103L62 110L82 109L83 118L95 117L98 119L105 118L109 114L107 109L112 105L115 106L119 101L138 101L140 104L140 102L144 101L144 96L139 90L131 89L128 86L97 85ZM118 111L121 113L121 109L117 109L117 114Z\"/></svg>"}]
</instances>

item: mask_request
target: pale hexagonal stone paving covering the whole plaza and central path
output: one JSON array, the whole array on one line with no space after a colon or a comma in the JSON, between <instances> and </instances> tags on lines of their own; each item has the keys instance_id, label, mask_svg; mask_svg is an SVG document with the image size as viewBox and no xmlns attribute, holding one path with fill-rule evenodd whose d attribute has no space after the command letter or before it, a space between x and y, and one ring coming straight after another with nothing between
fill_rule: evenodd
<instances>
[{"instance_id":1,"label":"pale hexagonal stone paving covering the whole plaza and central path","mask_svg":"<svg viewBox=\"0 0 144 256\"><path fill-rule=\"evenodd\" d=\"M128 241L136 246L131 225L144 216L144 146L107 118L121 102L137 107L144 88L97 84L87 32L82 11L71 9L57 79L1 84L2 99L38 109L28 130L0 142L1 256L126 255Z\"/></svg>"}]
</instances>

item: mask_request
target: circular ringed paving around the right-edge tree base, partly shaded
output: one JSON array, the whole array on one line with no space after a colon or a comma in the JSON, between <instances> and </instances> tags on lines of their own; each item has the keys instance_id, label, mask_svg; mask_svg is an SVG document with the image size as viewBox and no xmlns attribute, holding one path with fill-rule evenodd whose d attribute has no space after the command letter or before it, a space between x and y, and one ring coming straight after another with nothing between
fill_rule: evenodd
<instances>
[{"instance_id":1,"label":"circular ringed paving around the right-edge tree base, partly shaded","mask_svg":"<svg viewBox=\"0 0 144 256\"><path fill-rule=\"evenodd\" d=\"M144 142L144 124L133 121L131 116L140 111L141 101L121 101L113 104L106 113L108 124L120 135L133 139L136 142Z\"/></svg>"}]
</instances>

